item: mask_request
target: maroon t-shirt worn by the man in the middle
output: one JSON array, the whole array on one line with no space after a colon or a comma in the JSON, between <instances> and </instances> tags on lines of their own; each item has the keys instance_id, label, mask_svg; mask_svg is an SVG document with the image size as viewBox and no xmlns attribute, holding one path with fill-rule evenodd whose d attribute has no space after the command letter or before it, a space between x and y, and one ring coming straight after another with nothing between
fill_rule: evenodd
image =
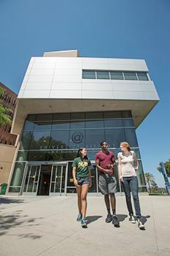
<instances>
[{"instance_id":1,"label":"maroon t-shirt worn by the man in the middle","mask_svg":"<svg viewBox=\"0 0 170 256\"><path fill-rule=\"evenodd\" d=\"M107 169L106 167L107 164L112 165L112 159L115 159L115 155L111 151L107 151L106 154L100 151L96 154L96 157L95 157L95 160L96 161L99 160L99 165L101 166L101 168L104 168L104 169ZM112 173L114 173L113 169L109 169L109 170L112 170ZM99 174L104 174L104 172L99 170Z\"/></svg>"}]
</instances>

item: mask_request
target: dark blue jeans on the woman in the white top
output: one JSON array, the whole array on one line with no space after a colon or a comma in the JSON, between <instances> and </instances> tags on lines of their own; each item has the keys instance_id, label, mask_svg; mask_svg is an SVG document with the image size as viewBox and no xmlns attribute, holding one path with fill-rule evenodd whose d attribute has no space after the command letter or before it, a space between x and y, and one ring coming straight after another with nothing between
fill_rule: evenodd
<instances>
[{"instance_id":1,"label":"dark blue jeans on the woman in the white top","mask_svg":"<svg viewBox=\"0 0 170 256\"><path fill-rule=\"evenodd\" d=\"M141 209L139 206L139 197L138 197L138 180L136 176L132 177L123 177L123 188L125 190L125 199L126 199L126 204L128 207L128 212L129 215L134 215L132 206L131 206L131 192L132 196L134 198L134 208L136 211L136 218L140 219L141 218Z\"/></svg>"}]
</instances>

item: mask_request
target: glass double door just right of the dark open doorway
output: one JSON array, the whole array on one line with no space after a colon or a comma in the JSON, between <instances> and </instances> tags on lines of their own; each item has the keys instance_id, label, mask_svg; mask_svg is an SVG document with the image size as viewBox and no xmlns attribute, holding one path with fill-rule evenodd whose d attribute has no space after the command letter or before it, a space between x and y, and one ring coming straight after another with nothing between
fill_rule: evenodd
<instances>
[{"instance_id":1,"label":"glass double door just right of the dark open doorway","mask_svg":"<svg viewBox=\"0 0 170 256\"><path fill-rule=\"evenodd\" d=\"M50 195L66 195L66 165L53 165L51 173Z\"/></svg>"}]
</instances>

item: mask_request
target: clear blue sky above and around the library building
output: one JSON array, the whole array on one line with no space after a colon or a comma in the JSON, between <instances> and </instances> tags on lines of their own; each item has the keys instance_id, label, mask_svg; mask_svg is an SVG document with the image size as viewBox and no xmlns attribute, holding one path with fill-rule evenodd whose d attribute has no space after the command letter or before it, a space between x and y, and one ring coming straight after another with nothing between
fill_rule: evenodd
<instances>
[{"instance_id":1,"label":"clear blue sky above and around the library building","mask_svg":"<svg viewBox=\"0 0 170 256\"><path fill-rule=\"evenodd\" d=\"M145 59L160 102L136 129L144 172L170 159L169 0L0 0L0 82L18 94L32 56Z\"/></svg>"}]
</instances>

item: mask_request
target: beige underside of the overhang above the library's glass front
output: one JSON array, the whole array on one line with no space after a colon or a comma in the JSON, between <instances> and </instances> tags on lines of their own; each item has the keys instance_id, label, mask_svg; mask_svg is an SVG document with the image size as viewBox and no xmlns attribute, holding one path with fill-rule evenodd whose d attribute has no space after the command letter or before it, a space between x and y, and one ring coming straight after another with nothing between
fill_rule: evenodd
<instances>
[{"instance_id":1,"label":"beige underside of the overhang above the library's glass front","mask_svg":"<svg viewBox=\"0 0 170 256\"><path fill-rule=\"evenodd\" d=\"M28 114L131 110L135 129L159 100L132 99L18 99L12 133L20 135Z\"/></svg>"}]
</instances>

